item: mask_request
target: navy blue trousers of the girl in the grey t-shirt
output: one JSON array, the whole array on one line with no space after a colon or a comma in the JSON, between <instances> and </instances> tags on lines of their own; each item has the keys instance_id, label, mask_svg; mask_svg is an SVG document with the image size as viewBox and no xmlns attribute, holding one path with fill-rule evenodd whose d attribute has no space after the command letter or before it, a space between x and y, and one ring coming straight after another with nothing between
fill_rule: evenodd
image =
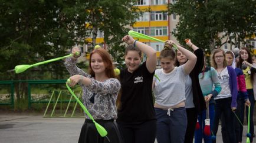
<instances>
[{"instance_id":1,"label":"navy blue trousers of the girl in the grey t-shirt","mask_svg":"<svg viewBox=\"0 0 256 143\"><path fill-rule=\"evenodd\" d=\"M155 108L156 111L156 139L158 143L184 142L186 133L185 107L175 108L167 114L167 110Z\"/></svg>"}]
</instances>

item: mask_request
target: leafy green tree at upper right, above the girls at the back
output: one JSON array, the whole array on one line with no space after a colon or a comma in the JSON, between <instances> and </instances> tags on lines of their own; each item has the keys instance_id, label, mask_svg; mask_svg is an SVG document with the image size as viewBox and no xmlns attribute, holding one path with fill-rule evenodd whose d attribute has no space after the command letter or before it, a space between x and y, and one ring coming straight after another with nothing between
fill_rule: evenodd
<instances>
[{"instance_id":1,"label":"leafy green tree at upper right, above the girls at the back","mask_svg":"<svg viewBox=\"0 0 256 143\"><path fill-rule=\"evenodd\" d=\"M174 36L183 42L190 38L196 45L212 50L216 46L233 42L245 44L246 36L255 32L255 1L213 0L178 1L169 4L169 14L180 16ZM220 36L219 33L224 33ZM225 42L222 42L222 39Z\"/></svg>"}]
</instances>

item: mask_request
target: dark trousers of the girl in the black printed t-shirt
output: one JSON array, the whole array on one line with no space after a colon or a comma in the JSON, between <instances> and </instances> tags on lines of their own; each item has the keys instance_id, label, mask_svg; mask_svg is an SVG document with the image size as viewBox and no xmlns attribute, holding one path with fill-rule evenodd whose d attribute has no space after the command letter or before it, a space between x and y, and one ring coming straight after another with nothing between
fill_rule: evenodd
<instances>
[{"instance_id":1,"label":"dark trousers of the girl in the black printed t-shirt","mask_svg":"<svg viewBox=\"0 0 256 143\"><path fill-rule=\"evenodd\" d=\"M125 143L154 143L156 120L141 122L117 122Z\"/></svg>"}]
</instances>

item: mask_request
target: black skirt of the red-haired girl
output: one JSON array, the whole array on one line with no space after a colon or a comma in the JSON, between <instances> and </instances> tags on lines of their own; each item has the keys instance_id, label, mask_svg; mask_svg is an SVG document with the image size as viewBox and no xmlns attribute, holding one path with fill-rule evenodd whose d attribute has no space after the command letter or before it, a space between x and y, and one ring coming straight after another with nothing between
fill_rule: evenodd
<instances>
[{"instance_id":1,"label":"black skirt of the red-haired girl","mask_svg":"<svg viewBox=\"0 0 256 143\"><path fill-rule=\"evenodd\" d=\"M123 143L122 135L114 120L95 120L107 131L107 137L101 137L97 131L94 122L86 119L81 128L78 143Z\"/></svg>"}]
</instances>

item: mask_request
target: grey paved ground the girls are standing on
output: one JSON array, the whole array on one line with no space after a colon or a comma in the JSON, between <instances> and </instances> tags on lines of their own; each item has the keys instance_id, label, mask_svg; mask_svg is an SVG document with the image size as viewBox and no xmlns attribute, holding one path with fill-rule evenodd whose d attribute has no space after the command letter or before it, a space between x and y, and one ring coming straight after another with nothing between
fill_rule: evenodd
<instances>
[{"instance_id":1,"label":"grey paved ground the girls are standing on","mask_svg":"<svg viewBox=\"0 0 256 143\"><path fill-rule=\"evenodd\" d=\"M0 142L78 142L83 122L83 118L43 118L42 115L0 114ZM244 128L244 142L245 132L247 132L247 126ZM218 131L216 142L222 142L220 131Z\"/></svg>"}]
</instances>

